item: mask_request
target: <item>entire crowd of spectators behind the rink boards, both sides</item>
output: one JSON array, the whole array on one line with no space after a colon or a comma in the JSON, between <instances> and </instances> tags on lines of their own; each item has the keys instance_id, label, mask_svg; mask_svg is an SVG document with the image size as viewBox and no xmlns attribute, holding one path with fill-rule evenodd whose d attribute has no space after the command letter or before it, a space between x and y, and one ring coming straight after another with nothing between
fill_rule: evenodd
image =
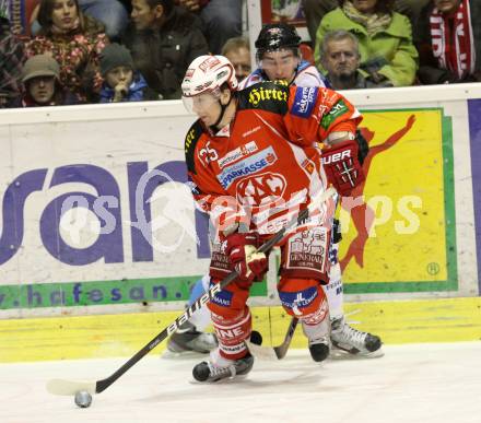
<instances>
[{"instance_id":1,"label":"entire crowd of spectators behind the rink boards, both sides","mask_svg":"<svg viewBox=\"0 0 481 423\"><path fill-rule=\"evenodd\" d=\"M481 1L300 0L336 90L481 81ZM15 31L12 11L31 8ZM180 97L198 56L250 72L242 0L0 0L0 107Z\"/></svg>"}]
</instances>

